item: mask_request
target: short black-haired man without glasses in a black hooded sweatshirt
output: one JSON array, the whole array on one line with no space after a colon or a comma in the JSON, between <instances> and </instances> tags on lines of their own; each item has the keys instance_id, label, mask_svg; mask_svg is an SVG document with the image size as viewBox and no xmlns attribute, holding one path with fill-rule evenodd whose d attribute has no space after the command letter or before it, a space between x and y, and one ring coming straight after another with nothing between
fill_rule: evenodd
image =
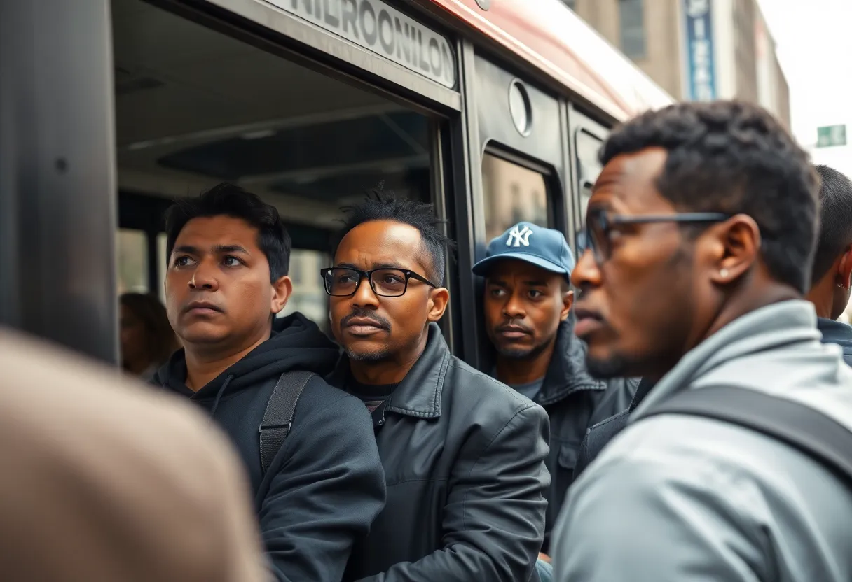
<instances>
[{"instance_id":1,"label":"short black-haired man without glasses in a black hooded sweatshirt","mask_svg":"<svg viewBox=\"0 0 852 582\"><path fill-rule=\"evenodd\" d=\"M321 378L337 346L300 313L275 317L292 289L278 211L217 185L170 208L166 235L166 307L184 349L155 382L198 402L233 439L276 579L338 582L383 507L384 476L364 406ZM268 410L287 413L284 424Z\"/></svg>"}]
</instances>

